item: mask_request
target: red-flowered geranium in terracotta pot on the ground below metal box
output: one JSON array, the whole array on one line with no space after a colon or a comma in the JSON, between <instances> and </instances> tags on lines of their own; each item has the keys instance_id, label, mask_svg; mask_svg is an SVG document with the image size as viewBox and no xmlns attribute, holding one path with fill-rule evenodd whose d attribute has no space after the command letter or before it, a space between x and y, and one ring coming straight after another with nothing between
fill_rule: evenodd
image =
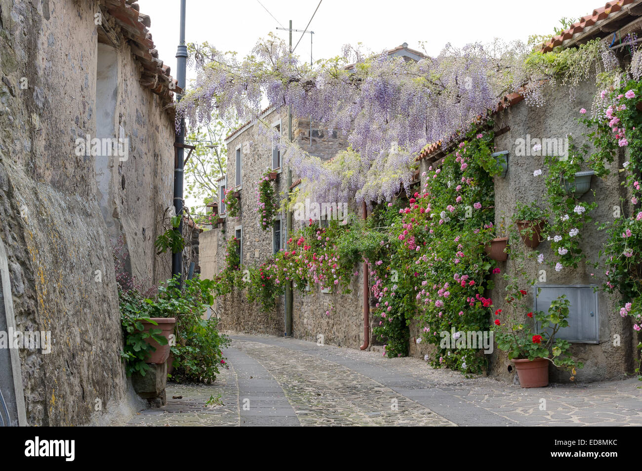
<instances>
[{"instance_id":1,"label":"red-flowered geranium in terracotta pot on the ground below metal box","mask_svg":"<svg viewBox=\"0 0 642 471\"><path fill-rule=\"evenodd\" d=\"M509 293L506 298L508 313L501 309L495 311L492 330L499 350L507 352L514 364L520 386L548 386L549 364L570 369L570 379L574 380L576 368L584 365L568 355L568 341L555 338L560 328L568 326L570 301L562 294L551 302L548 312L526 313L526 305L519 305L519 301L528 292L521 289Z\"/></svg>"}]
</instances>

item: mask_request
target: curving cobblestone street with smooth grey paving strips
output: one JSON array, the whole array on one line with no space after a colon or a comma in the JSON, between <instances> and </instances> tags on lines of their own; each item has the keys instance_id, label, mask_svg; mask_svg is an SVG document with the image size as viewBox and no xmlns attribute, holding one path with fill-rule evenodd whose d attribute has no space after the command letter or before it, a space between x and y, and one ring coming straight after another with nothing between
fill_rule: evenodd
<instances>
[{"instance_id":1,"label":"curving cobblestone street with smooth grey paving strips","mask_svg":"<svg viewBox=\"0 0 642 471\"><path fill-rule=\"evenodd\" d=\"M170 383L168 404L128 425L642 425L634 378L523 389L418 359L257 335L233 335L225 356L215 384Z\"/></svg>"}]
</instances>

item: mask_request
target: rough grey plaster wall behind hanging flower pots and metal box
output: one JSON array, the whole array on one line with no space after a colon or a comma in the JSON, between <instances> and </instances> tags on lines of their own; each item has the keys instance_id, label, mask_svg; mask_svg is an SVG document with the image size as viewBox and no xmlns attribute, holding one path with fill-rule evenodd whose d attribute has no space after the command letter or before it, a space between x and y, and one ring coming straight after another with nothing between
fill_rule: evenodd
<instances>
[{"instance_id":1,"label":"rough grey plaster wall behind hanging flower pots and metal box","mask_svg":"<svg viewBox=\"0 0 642 471\"><path fill-rule=\"evenodd\" d=\"M498 116L498 121L505 121L510 125L510 131L498 136L496 146L498 150L509 150L508 172L504 179L495 179L495 213L496 223L501 221L502 213L507 218L514 213L515 202L531 202L539 198L544 191L544 179L533 177L534 170L543 168L544 157L516 157L516 139L526 138L564 138L571 134L575 143L580 145L585 141L582 134L586 132L584 125L577 123L578 110L581 107L590 109L595 93L591 85L593 81L585 82L585 85L578 90L577 102L571 103L568 99L568 89L557 87L547 97L545 107L529 107L525 102L518 103ZM612 208L620 201L620 180L618 179L618 168L622 168L621 159L611 165L612 175L606 179L593 177L591 189L582 196L582 201L595 200L598 207L591 211L593 222L605 222L612 220ZM577 269L564 268L561 272L555 272L550 266L539 265L535 260L528 262L528 269L535 278L539 269L546 269L547 281L549 284L559 285L589 285L594 284L601 287L605 281L603 271L591 267L590 263L598 260L598 252L606 239L604 231L598 231L593 223L587 224L582 230L582 250L587 256L587 262L582 263ZM544 253L544 258L551 260L553 254L550 250L550 243L542 242L537 249ZM527 249L530 250L530 249ZM502 272L509 269L510 263L500 262ZM594 276L591 276L591 273ZM490 295L498 308L505 308L502 305L502 298L505 293L505 281L500 276L496 277L496 288ZM543 284L543 283L542 283ZM530 305L534 303L532 294L527 301ZM577 378L582 381L593 381L613 379L623 376L623 373L630 371L632 367L630 357L630 344L632 342L632 328L630 319L622 319L618 313L619 299L617 296L610 296L600 290L598 294L600 311L599 336L600 344L573 344L571 353L578 360L584 362L584 369L578 371ZM613 335L621 336L621 346L613 345ZM508 373L508 360L505 353L496 351L491 359L491 374L501 375L507 379L512 377ZM551 380L568 380L568 373L560 372L551 368Z\"/></svg>"}]
</instances>

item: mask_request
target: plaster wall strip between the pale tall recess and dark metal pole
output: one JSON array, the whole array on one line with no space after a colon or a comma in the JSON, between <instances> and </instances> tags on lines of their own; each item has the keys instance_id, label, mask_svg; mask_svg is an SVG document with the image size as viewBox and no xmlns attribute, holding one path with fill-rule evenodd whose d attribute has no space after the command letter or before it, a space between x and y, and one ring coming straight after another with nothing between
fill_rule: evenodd
<instances>
[{"instance_id":1,"label":"plaster wall strip between the pale tall recess and dark metal pole","mask_svg":"<svg viewBox=\"0 0 642 471\"><path fill-rule=\"evenodd\" d=\"M164 232L164 210L173 205L174 122L158 96L139 84L141 66L124 42L117 60L114 137L129 139L129 155L126 161L111 159L108 211L124 235L132 274L146 285L157 284L171 276L169 254L156 256L153 244Z\"/></svg>"}]
</instances>

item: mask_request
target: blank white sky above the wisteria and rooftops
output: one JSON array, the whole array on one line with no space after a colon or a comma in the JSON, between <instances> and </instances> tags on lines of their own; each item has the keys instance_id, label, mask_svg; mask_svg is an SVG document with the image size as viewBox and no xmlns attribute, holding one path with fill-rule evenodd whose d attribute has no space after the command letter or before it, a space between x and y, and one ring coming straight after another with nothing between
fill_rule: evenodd
<instances>
[{"instance_id":1,"label":"blank white sky above the wisteria and rooftops","mask_svg":"<svg viewBox=\"0 0 642 471\"><path fill-rule=\"evenodd\" d=\"M318 0L260 0L288 27L304 30ZM141 12L150 15L152 39L159 58L176 76L176 49L180 0L138 0ZM344 44L361 42L372 51L392 49L403 42L420 49L424 41L430 55L437 55L447 42L464 46L469 42L526 41L532 34L553 33L562 17L593 13L605 0L322 0L309 26L315 32L313 60L340 55ZM186 42L207 40L221 51L247 55L257 40L272 32L288 40L280 26L257 0L187 0ZM297 44L301 33L293 33ZM295 53L310 57L310 35L301 39ZM195 76L187 71L187 80ZM201 204L187 201L188 206Z\"/></svg>"}]
</instances>

